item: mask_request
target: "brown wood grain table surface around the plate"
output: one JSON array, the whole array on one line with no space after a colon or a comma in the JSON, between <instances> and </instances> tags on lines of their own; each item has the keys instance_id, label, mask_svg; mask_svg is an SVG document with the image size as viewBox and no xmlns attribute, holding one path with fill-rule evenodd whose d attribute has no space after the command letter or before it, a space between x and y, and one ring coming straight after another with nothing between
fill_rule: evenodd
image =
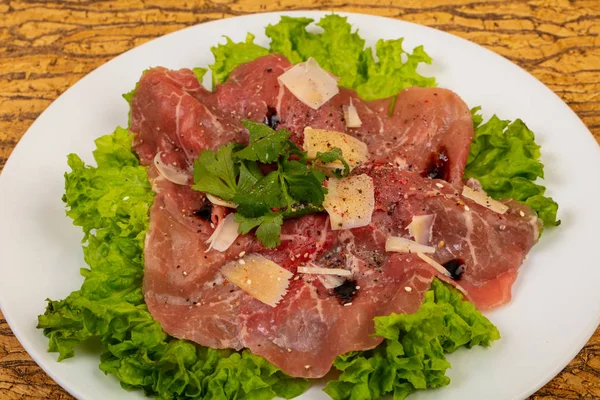
<instances>
[{"instance_id":1,"label":"brown wood grain table surface around the plate","mask_svg":"<svg viewBox=\"0 0 600 400\"><path fill-rule=\"evenodd\" d=\"M0 0L0 170L54 99L118 54L201 22L294 9L399 18L481 44L548 85L600 142L600 0ZM0 314L0 399L71 398ZM600 399L600 329L530 399Z\"/></svg>"}]
</instances>

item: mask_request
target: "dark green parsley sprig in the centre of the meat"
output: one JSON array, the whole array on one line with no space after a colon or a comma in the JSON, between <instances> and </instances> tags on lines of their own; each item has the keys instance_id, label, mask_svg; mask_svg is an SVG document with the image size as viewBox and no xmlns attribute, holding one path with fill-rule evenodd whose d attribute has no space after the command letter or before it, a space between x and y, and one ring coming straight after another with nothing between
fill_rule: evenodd
<instances>
[{"instance_id":1,"label":"dark green parsley sprig in the centre of the meat","mask_svg":"<svg viewBox=\"0 0 600 400\"><path fill-rule=\"evenodd\" d=\"M289 131L242 123L250 133L248 146L229 143L215 151L203 150L194 163L192 188L236 203L239 232L256 228L258 240L274 248L281 243L285 218L323 211L327 189L325 174L318 167L339 161L344 168L335 173L346 176L349 166L337 147L309 159L289 140ZM261 164L266 166L262 170Z\"/></svg>"}]
</instances>

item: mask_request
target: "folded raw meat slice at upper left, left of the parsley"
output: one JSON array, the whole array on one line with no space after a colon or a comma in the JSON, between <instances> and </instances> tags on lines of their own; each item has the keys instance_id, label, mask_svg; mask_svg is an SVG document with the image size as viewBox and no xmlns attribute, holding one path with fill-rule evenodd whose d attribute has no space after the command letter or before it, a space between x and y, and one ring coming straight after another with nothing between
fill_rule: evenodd
<instances>
[{"instance_id":1,"label":"folded raw meat slice at upper left, left of the parsley","mask_svg":"<svg viewBox=\"0 0 600 400\"><path fill-rule=\"evenodd\" d=\"M165 163L188 169L203 149L247 142L239 119L224 115L211 98L191 70L145 72L131 101L133 148L142 163L160 151Z\"/></svg>"}]
</instances>

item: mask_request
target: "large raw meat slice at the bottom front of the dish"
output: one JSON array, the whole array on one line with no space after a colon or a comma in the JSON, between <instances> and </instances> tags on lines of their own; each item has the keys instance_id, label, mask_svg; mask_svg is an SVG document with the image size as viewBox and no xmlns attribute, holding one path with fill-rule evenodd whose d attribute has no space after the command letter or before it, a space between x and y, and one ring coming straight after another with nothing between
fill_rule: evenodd
<instances>
[{"instance_id":1,"label":"large raw meat slice at the bottom front of the dish","mask_svg":"<svg viewBox=\"0 0 600 400\"><path fill-rule=\"evenodd\" d=\"M160 177L153 184L159 194L146 238L144 296L154 318L172 336L216 348L247 347L292 376L323 376L339 354L377 346L381 338L370 336L373 318L416 311L435 276L415 257L385 257L381 232L331 231L323 214L285 221L276 250L246 235L224 253L205 252L213 229L190 205L203 207L205 200ZM348 268L356 294L339 297L318 277L295 274L272 308L220 273L243 253L260 253L294 273L310 261Z\"/></svg>"}]
</instances>

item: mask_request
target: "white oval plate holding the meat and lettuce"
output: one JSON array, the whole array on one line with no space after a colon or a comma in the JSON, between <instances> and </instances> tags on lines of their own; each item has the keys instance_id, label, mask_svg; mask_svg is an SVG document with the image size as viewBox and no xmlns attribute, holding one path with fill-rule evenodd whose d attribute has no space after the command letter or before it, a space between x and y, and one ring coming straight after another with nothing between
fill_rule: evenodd
<instances>
[{"instance_id":1,"label":"white oval plate holding the meat and lettuce","mask_svg":"<svg viewBox=\"0 0 600 400\"><path fill-rule=\"evenodd\" d=\"M285 13L319 19L325 13ZM36 362L80 399L143 398L126 392L98 369L98 354L79 349L56 362L35 328L45 299L79 288L84 266L81 232L61 202L66 155L90 161L93 140L126 125L129 91L149 66L206 66L210 47L250 31L266 45L264 27L279 13L210 22L161 37L115 58L70 88L35 121L0 179L0 304L13 332ZM502 340L491 349L449 357L450 386L411 399L521 399L556 375L600 322L600 268L595 258L600 226L600 151L577 116L552 91L506 59L452 35L393 19L346 14L372 45L405 37L408 49L424 44L434 64L423 68L441 87L458 92L486 117L522 118L537 134L548 193L560 204L563 225L548 229L513 287L513 301L488 314ZM313 387L303 399L325 399Z\"/></svg>"}]
</instances>

